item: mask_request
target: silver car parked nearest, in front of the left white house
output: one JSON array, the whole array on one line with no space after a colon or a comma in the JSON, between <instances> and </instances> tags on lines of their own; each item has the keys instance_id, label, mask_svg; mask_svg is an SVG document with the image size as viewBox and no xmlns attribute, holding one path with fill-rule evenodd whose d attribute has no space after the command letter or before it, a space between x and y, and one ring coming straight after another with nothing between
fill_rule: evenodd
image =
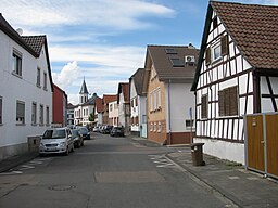
<instances>
[{"instance_id":1,"label":"silver car parked nearest, in front of the left white house","mask_svg":"<svg viewBox=\"0 0 278 208\"><path fill-rule=\"evenodd\" d=\"M60 153L68 155L74 152L74 140L68 128L52 128L45 131L39 145L39 154Z\"/></svg>"}]
</instances>

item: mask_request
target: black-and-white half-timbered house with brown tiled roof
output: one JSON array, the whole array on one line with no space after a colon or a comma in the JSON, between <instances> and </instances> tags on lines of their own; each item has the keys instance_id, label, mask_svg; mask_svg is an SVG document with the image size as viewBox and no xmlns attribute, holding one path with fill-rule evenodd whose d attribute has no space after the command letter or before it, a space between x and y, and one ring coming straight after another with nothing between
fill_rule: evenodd
<instances>
[{"instance_id":1,"label":"black-and-white half-timbered house with brown tiled roof","mask_svg":"<svg viewBox=\"0 0 278 208\"><path fill-rule=\"evenodd\" d=\"M208 3L195 92L204 152L244 164L243 115L277 112L278 6Z\"/></svg>"}]
</instances>

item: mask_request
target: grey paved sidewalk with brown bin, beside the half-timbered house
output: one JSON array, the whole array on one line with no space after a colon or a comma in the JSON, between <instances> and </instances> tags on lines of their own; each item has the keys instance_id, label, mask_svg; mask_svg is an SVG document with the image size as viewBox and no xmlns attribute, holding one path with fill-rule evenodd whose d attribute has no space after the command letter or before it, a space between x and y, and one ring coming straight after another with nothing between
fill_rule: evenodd
<instances>
[{"instance_id":1,"label":"grey paved sidewalk with brown bin, beside the half-timbered house","mask_svg":"<svg viewBox=\"0 0 278 208\"><path fill-rule=\"evenodd\" d=\"M169 153L167 157L239 207L278 207L278 181L208 155L204 155L205 166L192 166L190 147Z\"/></svg>"}]
</instances>

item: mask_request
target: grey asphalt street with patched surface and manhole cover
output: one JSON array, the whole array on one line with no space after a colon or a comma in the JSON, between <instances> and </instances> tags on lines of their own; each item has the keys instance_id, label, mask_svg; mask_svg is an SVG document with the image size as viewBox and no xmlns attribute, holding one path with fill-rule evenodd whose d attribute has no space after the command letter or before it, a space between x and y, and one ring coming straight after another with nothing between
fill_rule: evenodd
<instances>
[{"instance_id":1,"label":"grey asphalt street with patched surface and manhole cover","mask_svg":"<svg viewBox=\"0 0 278 208\"><path fill-rule=\"evenodd\" d=\"M91 138L70 156L37 157L1 173L0 207L231 207L164 156L177 148Z\"/></svg>"}]
</instances>

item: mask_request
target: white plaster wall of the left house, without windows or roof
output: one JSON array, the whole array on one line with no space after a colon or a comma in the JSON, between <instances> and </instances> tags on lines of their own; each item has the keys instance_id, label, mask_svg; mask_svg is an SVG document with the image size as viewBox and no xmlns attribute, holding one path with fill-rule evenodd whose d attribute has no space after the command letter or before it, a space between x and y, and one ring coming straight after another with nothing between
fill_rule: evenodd
<instances>
[{"instance_id":1,"label":"white plaster wall of the left house, without windows or roof","mask_svg":"<svg viewBox=\"0 0 278 208\"><path fill-rule=\"evenodd\" d=\"M0 99L2 100L0 159L26 152L28 150L27 138L41 135L52 122L52 82L46 47L42 47L39 57L36 57L0 30ZM22 75L13 72L14 51L22 58ZM38 67L41 72L41 83L45 82L43 75L47 76L46 88L37 86ZM22 123L16 121L17 102L24 104ZM36 104L36 122L31 118L33 104ZM42 118L40 118L40 109Z\"/></svg>"}]
</instances>

